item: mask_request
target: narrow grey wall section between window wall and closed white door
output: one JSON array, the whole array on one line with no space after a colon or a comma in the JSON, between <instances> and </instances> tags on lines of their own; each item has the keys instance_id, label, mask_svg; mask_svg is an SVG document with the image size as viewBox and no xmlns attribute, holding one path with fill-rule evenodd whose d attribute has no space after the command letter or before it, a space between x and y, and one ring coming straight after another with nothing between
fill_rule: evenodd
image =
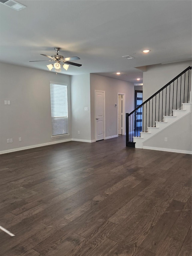
<instances>
[{"instance_id":1,"label":"narrow grey wall section between window wall and closed white door","mask_svg":"<svg viewBox=\"0 0 192 256\"><path fill-rule=\"evenodd\" d=\"M90 113L90 74L71 76L72 139L91 141Z\"/></svg>"}]
</instances>

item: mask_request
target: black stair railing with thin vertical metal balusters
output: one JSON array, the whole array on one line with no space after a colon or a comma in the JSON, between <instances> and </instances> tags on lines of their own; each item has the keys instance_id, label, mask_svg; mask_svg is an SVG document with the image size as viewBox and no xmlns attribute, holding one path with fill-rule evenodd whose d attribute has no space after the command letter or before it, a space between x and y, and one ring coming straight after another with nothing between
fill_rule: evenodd
<instances>
[{"instance_id":1,"label":"black stair railing with thin vertical metal balusters","mask_svg":"<svg viewBox=\"0 0 192 256\"><path fill-rule=\"evenodd\" d=\"M156 127L164 116L173 116L174 109L190 100L191 80L189 66L169 83L154 93L131 113L126 113L126 146L135 147L134 137L141 137L148 127Z\"/></svg>"}]
</instances>

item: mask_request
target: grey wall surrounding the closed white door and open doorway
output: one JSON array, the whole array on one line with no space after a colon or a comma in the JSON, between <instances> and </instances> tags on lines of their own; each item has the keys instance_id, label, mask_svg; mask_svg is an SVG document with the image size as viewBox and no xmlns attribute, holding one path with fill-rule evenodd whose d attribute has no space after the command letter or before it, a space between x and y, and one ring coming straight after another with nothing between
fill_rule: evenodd
<instances>
[{"instance_id":1,"label":"grey wall surrounding the closed white door and open doorway","mask_svg":"<svg viewBox=\"0 0 192 256\"><path fill-rule=\"evenodd\" d=\"M134 84L90 74L91 140L95 140L95 90L105 91L105 137L118 135L118 93L125 94L125 112L134 110ZM109 132L109 129L111 130Z\"/></svg>"}]
</instances>

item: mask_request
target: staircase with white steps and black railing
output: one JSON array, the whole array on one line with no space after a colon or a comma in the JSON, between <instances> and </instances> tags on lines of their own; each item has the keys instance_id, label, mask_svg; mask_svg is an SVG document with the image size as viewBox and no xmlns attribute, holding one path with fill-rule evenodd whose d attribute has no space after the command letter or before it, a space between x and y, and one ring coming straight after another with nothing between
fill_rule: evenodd
<instances>
[{"instance_id":1,"label":"staircase with white steps and black railing","mask_svg":"<svg viewBox=\"0 0 192 256\"><path fill-rule=\"evenodd\" d=\"M191 67L186 68L139 107L126 113L126 146L147 148L144 142L191 113L190 70Z\"/></svg>"}]
</instances>

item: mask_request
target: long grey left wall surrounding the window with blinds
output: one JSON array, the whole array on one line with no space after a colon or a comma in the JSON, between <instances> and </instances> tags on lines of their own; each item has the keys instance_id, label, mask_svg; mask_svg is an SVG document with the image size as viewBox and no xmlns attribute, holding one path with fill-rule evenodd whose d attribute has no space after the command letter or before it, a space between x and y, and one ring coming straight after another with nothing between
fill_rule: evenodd
<instances>
[{"instance_id":1,"label":"long grey left wall surrounding the window with blinds","mask_svg":"<svg viewBox=\"0 0 192 256\"><path fill-rule=\"evenodd\" d=\"M50 82L67 84L71 134L70 76L0 64L0 151L71 138L51 139ZM10 105L5 105L4 100L10 100ZM13 138L13 143L7 143L8 138Z\"/></svg>"}]
</instances>

